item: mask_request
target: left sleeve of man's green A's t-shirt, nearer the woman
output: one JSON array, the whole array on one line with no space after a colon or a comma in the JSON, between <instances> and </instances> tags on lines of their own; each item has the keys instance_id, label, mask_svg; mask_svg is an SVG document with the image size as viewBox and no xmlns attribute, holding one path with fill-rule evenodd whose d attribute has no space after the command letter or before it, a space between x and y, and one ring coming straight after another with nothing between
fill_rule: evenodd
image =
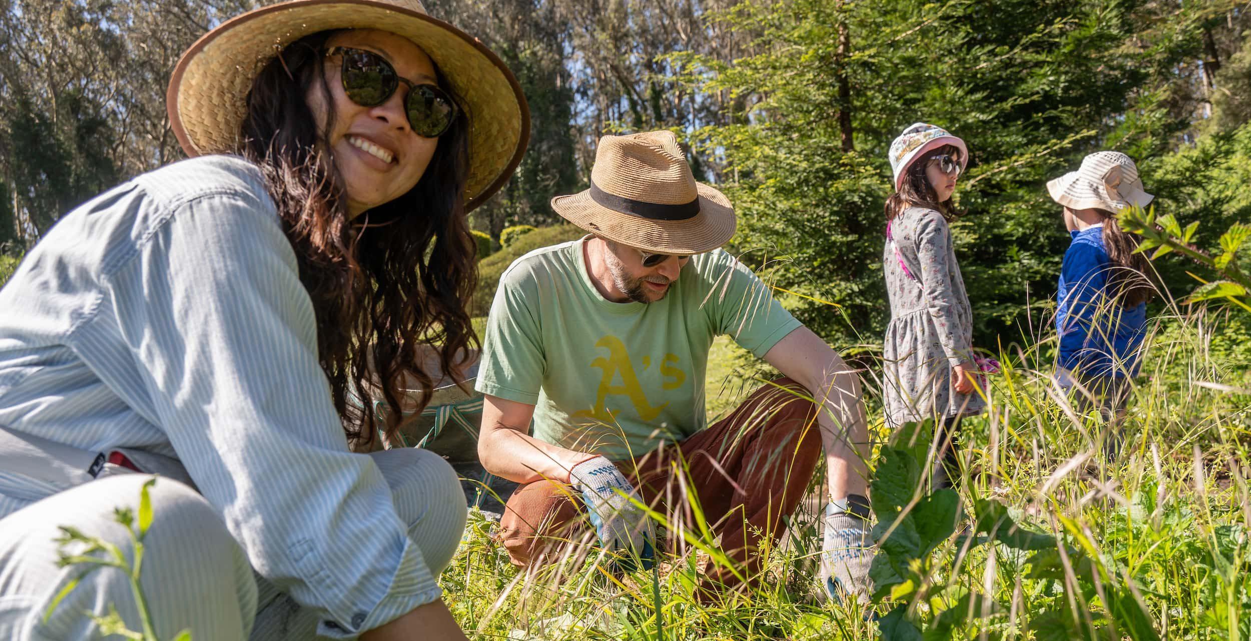
<instances>
[{"instance_id":1,"label":"left sleeve of man's green A's t-shirt, nearer the woman","mask_svg":"<svg viewBox=\"0 0 1251 641\"><path fill-rule=\"evenodd\" d=\"M474 384L479 392L518 403L538 403L547 356L539 319L527 305L527 300L537 300L537 289L538 283L524 265L514 263L499 278Z\"/></svg>"}]
</instances>

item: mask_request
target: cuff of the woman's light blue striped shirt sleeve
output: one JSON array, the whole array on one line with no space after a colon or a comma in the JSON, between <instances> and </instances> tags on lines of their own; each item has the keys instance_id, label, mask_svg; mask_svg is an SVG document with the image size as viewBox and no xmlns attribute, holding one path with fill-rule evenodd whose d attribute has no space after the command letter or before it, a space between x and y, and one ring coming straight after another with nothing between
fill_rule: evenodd
<instances>
[{"instance_id":1,"label":"cuff of the woman's light blue striped shirt sleeve","mask_svg":"<svg viewBox=\"0 0 1251 641\"><path fill-rule=\"evenodd\" d=\"M340 612L323 611L317 631L319 636L329 638L357 638L362 632L389 623L442 596L443 588L430 575L420 547L409 540L404 546L399 567L392 577L390 587L372 610L350 610L349 603L343 603L337 608L343 610Z\"/></svg>"}]
</instances>

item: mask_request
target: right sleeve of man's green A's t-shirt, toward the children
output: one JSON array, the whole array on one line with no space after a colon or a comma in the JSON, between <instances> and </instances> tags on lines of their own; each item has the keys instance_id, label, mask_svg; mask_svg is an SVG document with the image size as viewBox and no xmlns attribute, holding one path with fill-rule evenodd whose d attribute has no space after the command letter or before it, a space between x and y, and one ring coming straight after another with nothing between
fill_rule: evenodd
<instances>
[{"instance_id":1,"label":"right sleeve of man's green A's t-shirt, toward the children","mask_svg":"<svg viewBox=\"0 0 1251 641\"><path fill-rule=\"evenodd\" d=\"M763 358L778 341L802 326L773 298L769 287L734 257L718 252L709 268L706 277L711 287L703 304L714 333L729 334L739 347Z\"/></svg>"}]
</instances>

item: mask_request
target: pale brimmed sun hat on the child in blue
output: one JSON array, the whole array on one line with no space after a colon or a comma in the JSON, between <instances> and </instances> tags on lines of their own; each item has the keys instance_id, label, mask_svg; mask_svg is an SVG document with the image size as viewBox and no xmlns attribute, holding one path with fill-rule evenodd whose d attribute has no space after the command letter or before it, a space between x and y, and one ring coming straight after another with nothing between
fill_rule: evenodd
<instances>
[{"instance_id":1,"label":"pale brimmed sun hat on the child in blue","mask_svg":"<svg viewBox=\"0 0 1251 641\"><path fill-rule=\"evenodd\" d=\"M1120 151L1087 155L1076 172L1047 182L1047 192L1068 209L1113 213L1130 205L1147 207L1156 198L1143 189L1133 159Z\"/></svg>"}]
</instances>

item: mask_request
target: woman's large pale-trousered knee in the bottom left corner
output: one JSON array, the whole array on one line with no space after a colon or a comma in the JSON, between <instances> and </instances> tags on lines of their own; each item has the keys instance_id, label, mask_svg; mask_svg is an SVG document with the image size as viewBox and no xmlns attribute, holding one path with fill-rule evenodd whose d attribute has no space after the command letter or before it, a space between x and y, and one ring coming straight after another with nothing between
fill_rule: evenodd
<instances>
[{"instance_id":1,"label":"woman's large pale-trousered knee in the bottom left corner","mask_svg":"<svg viewBox=\"0 0 1251 641\"><path fill-rule=\"evenodd\" d=\"M115 546L134 563L138 548L131 535L138 535L141 525L146 525L140 586L158 636L171 638L191 628L198 640L246 637L256 610L256 588L246 556L216 510L185 485L156 478L148 487L150 512L145 510L140 492L153 478L125 474L94 481L5 520L20 520L25 541L0 537L0 573L14 578L4 581L0 596L38 595L34 608L39 616L28 618L29 628L21 636L90 637L94 623L84 611L103 616L110 606L118 608L131 630L141 630L130 582L124 572L113 567L98 567L85 575L50 610L46 621L43 615L53 605L51 595L90 567L85 563L58 567L60 551L84 553L89 550L81 541L54 541L60 526L71 526L83 537ZM115 512L118 508L120 512ZM128 526L119 522L119 515L129 515L130 533ZM49 591L49 586L54 588Z\"/></svg>"}]
</instances>

